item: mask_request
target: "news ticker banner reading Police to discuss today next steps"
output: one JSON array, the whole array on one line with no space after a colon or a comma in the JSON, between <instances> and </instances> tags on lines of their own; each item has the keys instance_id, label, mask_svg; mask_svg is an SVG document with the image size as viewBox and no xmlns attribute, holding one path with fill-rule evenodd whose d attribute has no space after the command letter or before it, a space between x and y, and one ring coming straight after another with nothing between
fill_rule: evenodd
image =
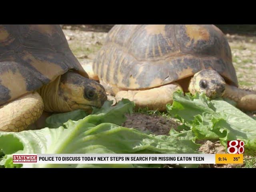
<instances>
[{"instance_id":1,"label":"news ticker banner reading Police to discuss today next steps","mask_svg":"<svg viewBox=\"0 0 256 192\"><path fill-rule=\"evenodd\" d=\"M243 154L14 154L14 164L243 164Z\"/></svg>"}]
</instances>

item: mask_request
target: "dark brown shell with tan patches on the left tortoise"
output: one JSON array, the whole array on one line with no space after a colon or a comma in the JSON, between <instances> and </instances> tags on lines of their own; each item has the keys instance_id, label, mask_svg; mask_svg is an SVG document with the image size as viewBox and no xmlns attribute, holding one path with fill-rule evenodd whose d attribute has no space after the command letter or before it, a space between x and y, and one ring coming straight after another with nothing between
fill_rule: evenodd
<instances>
[{"instance_id":1,"label":"dark brown shell with tan patches on the left tortoise","mask_svg":"<svg viewBox=\"0 0 256 192\"><path fill-rule=\"evenodd\" d=\"M70 69L88 78L59 25L0 25L0 105Z\"/></svg>"}]
</instances>

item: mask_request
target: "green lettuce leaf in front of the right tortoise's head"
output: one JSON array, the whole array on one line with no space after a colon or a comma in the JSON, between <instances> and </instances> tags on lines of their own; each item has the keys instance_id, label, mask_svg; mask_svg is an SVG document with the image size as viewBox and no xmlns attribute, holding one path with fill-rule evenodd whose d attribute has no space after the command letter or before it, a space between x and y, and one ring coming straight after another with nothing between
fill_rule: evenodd
<instances>
[{"instance_id":1,"label":"green lettuce leaf in front of the right tortoise's head","mask_svg":"<svg viewBox=\"0 0 256 192\"><path fill-rule=\"evenodd\" d=\"M182 128L190 127L196 139L220 139L224 146L228 140L243 140L245 152L256 153L256 120L236 108L234 102L181 91L175 92L173 99L172 106L166 105L168 113L184 123Z\"/></svg>"}]
</instances>

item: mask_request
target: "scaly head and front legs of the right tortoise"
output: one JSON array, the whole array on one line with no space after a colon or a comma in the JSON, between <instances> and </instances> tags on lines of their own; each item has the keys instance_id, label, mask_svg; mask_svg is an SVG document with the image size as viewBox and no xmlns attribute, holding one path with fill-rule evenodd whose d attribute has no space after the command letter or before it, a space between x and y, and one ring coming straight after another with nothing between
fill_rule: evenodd
<instances>
[{"instance_id":1,"label":"scaly head and front legs of the right tortoise","mask_svg":"<svg viewBox=\"0 0 256 192\"><path fill-rule=\"evenodd\" d=\"M102 82L102 81L101 81ZM106 86L107 91L114 90L111 86ZM128 98L135 102L136 107L148 107L150 110L166 110L166 104L172 104L172 94L176 90L182 90L177 83L151 88L148 90L121 90L116 93L116 101ZM206 69L194 74L189 82L189 91L205 92L210 98L225 97L234 100L237 107L243 110L256 111L256 90L245 90L226 84L222 76L215 70ZM112 94L114 91L111 92Z\"/></svg>"}]
</instances>

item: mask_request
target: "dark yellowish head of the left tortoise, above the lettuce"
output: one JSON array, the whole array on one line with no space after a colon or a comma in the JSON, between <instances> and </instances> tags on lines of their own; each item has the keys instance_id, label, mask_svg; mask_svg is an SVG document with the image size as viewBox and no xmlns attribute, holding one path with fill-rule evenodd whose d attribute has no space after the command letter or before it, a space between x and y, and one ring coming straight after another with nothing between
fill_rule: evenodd
<instances>
[{"instance_id":1,"label":"dark yellowish head of the left tortoise, above the lettuce","mask_svg":"<svg viewBox=\"0 0 256 192\"><path fill-rule=\"evenodd\" d=\"M90 111L92 106L100 108L107 100L104 87L98 82L68 71L60 78L59 97L71 110Z\"/></svg>"}]
</instances>

